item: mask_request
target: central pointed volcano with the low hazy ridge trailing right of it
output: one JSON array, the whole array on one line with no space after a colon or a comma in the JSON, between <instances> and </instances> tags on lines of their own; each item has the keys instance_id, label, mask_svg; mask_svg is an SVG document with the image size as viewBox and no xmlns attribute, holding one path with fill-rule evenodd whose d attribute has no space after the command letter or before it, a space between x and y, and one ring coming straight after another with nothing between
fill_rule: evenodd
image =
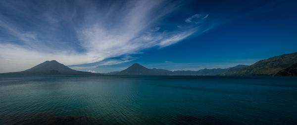
<instances>
[{"instance_id":1,"label":"central pointed volcano with the low hazy ridge trailing right of it","mask_svg":"<svg viewBox=\"0 0 297 125\"><path fill-rule=\"evenodd\" d=\"M246 65L239 65L236 67L231 67L227 69L202 69L198 71L169 71L164 69L148 69L138 63L133 64L127 69L114 73L107 73L107 75L184 75L184 76L217 76L229 69L238 69L239 67L247 67Z\"/></svg>"}]
</instances>

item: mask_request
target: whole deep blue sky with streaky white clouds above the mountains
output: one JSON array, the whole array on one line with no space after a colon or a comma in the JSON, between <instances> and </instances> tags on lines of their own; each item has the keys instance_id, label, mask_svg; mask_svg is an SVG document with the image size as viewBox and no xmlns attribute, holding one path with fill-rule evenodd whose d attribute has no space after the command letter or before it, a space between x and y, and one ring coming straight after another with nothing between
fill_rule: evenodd
<instances>
[{"instance_id":1,"label":"whole deep blue sky with streaky white clouds above the mountains","mask_svg":"<svg viewBox=\"0 0 297 125\"><path fill-rule=\"evenodd\" d=\"M296 0L0 0L0 73L251 65L297 52Z\"/></svg>"}]
</instances>

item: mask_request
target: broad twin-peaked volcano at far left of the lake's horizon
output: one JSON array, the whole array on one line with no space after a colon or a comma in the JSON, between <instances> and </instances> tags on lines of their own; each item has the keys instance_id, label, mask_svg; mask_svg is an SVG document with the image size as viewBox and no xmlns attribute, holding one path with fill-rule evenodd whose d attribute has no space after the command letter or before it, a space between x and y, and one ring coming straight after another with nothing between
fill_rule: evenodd
<instances>
[{"instance_id":1,"label":"broad twin-peaked volcano at far left of the lake's horizon","mask_svg":"<svg viewBox=\"0 0 297 125\"><path fill-rule=\"evenodd\" d=\"M45 61L37 66L21 72L2 73L0 75L92 75L91 72L83 72L70 69L55 60Z\"/></svg>"}]
</instances>

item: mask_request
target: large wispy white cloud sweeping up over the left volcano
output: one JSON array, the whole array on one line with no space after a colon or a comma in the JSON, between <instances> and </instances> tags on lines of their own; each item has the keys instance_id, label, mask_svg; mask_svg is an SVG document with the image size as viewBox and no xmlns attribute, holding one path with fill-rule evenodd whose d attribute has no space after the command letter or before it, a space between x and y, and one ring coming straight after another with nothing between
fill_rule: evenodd
<instances>
[{"instance_id":1,"label":"large wispy white cloud sweeping up over the left volcano","mask_svg":"<svg viewBox=\"0 0 297 125\"><path fill-rule=\"evenodd\" d=\"M33 19L20 18L24 18L24 25L32 27L18 27L14 19L0 13L0 32L12 36L0 39L1 72L30 68L36 63L53 59L66 65L96 63L107 58L141 53L141 50L153 46L165 47L203 31L200 28L203 25L201 20L208 18L208 14L196 14L186 22L198 24L200 20L199 25L176 28L179 24L173 24L175 29L168 30L168 27L159 26L158 21L175 11L179 7L178 2L131 0L97 4L91 1L59 3L58 9L51 2L41 7L31 5L41 13ZM19 4L9 2L4 7L13 14L34 15L33 10ZM20 10L16 7L24 11L13 11ZM95 66L132 60L109 60ZM24 68L6 68L13 65Z\"/></svg>"}]
</instances>

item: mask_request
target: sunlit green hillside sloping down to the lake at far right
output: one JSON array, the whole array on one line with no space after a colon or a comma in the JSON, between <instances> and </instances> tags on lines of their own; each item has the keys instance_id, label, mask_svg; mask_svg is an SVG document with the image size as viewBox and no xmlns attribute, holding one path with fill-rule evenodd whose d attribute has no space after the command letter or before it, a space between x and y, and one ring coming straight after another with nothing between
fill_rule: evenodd
<instances>
[{"instance_id":1,"label":"sunlit green hillside sloping down to the lake at far right","mask_svg":"<svg viewBox=\"0 0 297 125\"><path fill-rule=\"evenodd\" d=\"M260 60L239 71L229 72L229 76L273 76L297 63L297 52Z\"/></svg>"}]
</instances>

